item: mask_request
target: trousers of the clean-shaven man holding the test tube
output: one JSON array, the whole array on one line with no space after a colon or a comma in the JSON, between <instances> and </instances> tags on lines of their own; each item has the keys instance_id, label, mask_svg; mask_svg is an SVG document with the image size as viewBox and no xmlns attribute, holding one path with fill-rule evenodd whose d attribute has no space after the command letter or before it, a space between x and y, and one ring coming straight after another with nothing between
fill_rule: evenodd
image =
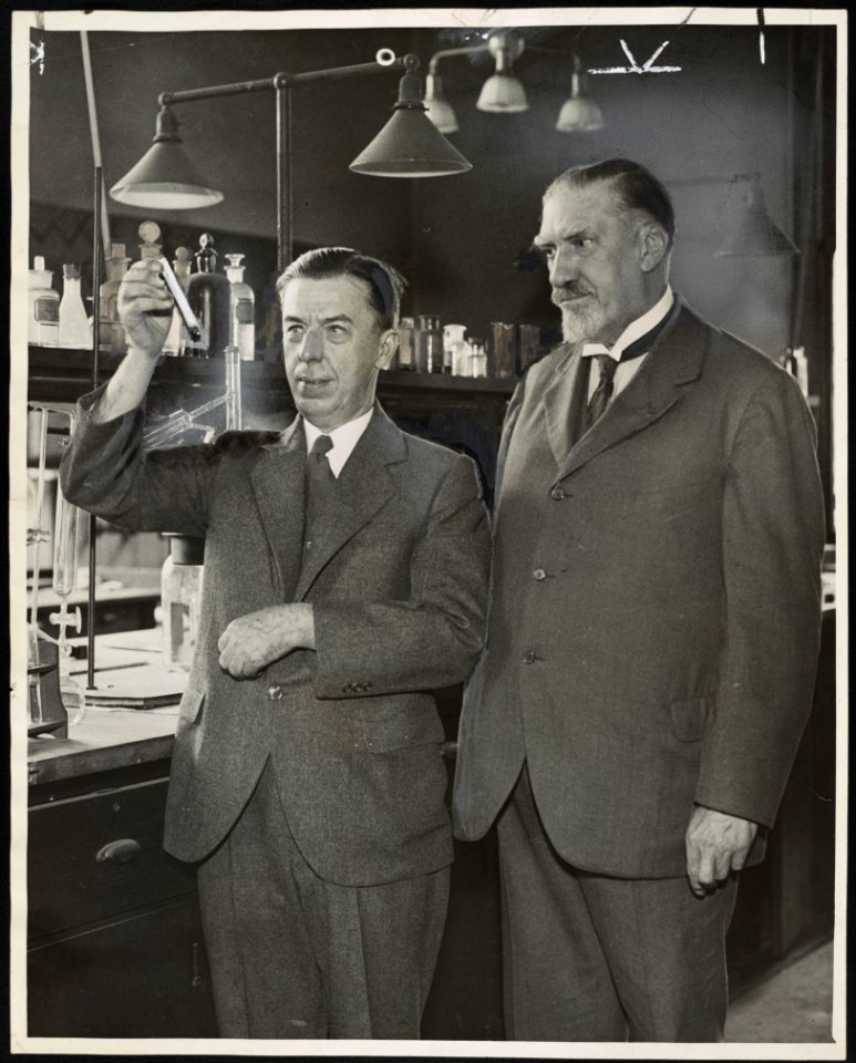
<instances>
[{"instance_id":1,"label":"trousers of the clean-shaven man holding the test tube","mask_svg":"<svg viewBox=\"0 0 856 1063\"><path fill-rule=\"evenodd\" d=\"M448 877L322 880L295 843L268 763L198 871L220 1035L417 1039Z\"/></svg>"}]
</instances>

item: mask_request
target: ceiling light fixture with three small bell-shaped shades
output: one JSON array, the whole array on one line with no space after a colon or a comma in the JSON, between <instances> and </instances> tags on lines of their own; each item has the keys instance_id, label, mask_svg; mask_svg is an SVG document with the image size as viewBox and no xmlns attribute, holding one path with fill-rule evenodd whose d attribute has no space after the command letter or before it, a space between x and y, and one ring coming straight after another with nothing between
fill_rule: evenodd
<instances>
[{"instance_id":1,"label":"ceiling light fixture with three small bell-shaped shades","mask_svg":"<svg viewBox=\"0 0 856 1063\"><path fill-rule=\"evenodd\" d=\"M523 54L524 49L533 52L551 52L557 55L571 56L574 71L570 78L570 96L559 112L556 128L561 133L588 132L604 126L604 115L600 107L588 95L586 75L579 56L566 49L543 48L537 44L526 44L524 39L510 31L503 30L493 34L485 44L473 44L466 48L446 48L434 52L429 63L425 79L425 107L427 116L441 133L455 133L458 128L452 104L443 91L443 82L437 74L441 59L450 55L472 55L474 52L492 52L496 60L496 72L482 86L476 106L479 111L494 114L514 114L529 110L526 90L514 74L514 62Z\"/></svg>"}]
</instances>

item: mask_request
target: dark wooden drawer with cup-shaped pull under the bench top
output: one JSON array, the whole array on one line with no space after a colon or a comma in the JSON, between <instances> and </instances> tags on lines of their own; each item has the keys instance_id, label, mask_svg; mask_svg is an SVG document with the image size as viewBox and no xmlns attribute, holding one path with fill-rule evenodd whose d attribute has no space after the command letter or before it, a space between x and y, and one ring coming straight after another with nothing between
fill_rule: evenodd
<instances>
[{"instance_id":1,"label":"dark wooden drawer with cup-shaped pull under the bench top","mask_svg":"<svg viewBox=\"0 0 856 1063\"><path fill-rule=\"evenodd\" d=\"M31 941L195 889L194 869L162 848L166 786L156 780L30 809Z\"/></svg>"}]
</instances>

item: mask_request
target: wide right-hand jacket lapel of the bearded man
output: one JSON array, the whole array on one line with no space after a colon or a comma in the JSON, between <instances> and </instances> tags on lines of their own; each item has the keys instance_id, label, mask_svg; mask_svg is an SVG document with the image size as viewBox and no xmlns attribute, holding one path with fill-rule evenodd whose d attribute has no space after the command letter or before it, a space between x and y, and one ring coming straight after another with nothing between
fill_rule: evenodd
<instances>
[{"instance_id":1,"label":"wide right-hand jacket lapel of the bearded man","mask_svg":"<svg viewBox=\"0 0 856 1063\"><path fill-rule=\"evenodd\" d=\"M657 338L630 384L570 452L566 452L558 479L570 476L592 457L659 421L680 401L680 385L701 375L707 347L701 322L681 307L673 326Z\"/></svg>"}]
</instances>

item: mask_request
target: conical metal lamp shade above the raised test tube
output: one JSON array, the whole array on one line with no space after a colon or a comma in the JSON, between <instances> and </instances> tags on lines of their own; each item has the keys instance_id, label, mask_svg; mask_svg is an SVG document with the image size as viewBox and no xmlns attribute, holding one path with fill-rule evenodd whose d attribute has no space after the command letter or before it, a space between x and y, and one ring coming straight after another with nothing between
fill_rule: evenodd
<instances>
[{"instance_id":1,"label":"conical metal lamp shade above the raised test tube","mask_svg":"<svg viewBox=\"0 0 856 1063\"><path fill-rule=\"evenodd\" d=\"M178 123L168 107L157 116L154 143L125 176L110 189L117 203L156 210L193 210L212 207L223 193L209 188L185 155Z\"/></svg>"}]
</instances>

